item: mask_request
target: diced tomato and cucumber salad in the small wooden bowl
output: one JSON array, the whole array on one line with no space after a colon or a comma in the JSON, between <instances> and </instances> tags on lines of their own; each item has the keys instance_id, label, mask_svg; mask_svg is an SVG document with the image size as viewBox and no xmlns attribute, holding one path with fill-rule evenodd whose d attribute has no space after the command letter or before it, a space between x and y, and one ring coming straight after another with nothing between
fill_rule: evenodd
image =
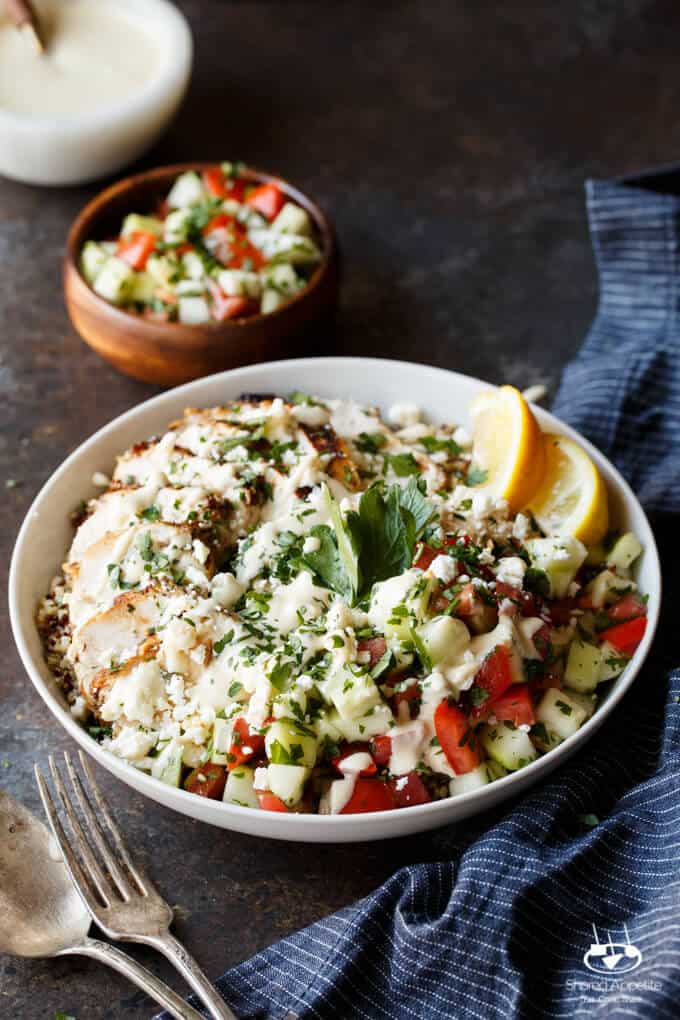
<instances>
[{"instance_id":1,"label":"diced tomato and cucumber salad in the small wooden bowl","mask_svg":"<svg viewBox=\"0 0 680 1020\"><path fill-rule=\"evenodd\" d=\"M276 311L322 258L306 209L240 163L174 181L156 209L132 212L117 238L88 241L81 270L102 298L159 322L188 325Z\"/></svg>"}]
</instances>

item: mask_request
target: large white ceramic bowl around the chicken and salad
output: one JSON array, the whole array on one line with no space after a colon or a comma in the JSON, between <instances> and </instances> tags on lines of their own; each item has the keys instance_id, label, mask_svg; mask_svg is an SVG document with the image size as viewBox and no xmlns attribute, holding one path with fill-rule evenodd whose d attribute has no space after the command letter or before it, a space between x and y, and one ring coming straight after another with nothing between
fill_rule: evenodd
<instances>
[{"instance_id":1,"label":"large white ceramic bowl around the chicken and salad","mask_svg":"<svg viewBox=\"0 0 680 1020\"><path fill-rule=\"evenodd\" d=\"M383 411L399 401L415 401L434 421L469 423L468 407L487 384L466 375L375 358L309 358L276 361L222 372L189 382L127 411L79 447L44 486L23 522L9 577L9 605L14 639L29 674L61 725L104 768L154 801L192 818L254 835L313 843L378 839L434 828L490 808L547 775L592 736L633 682L647 654L659 618L661 572L651 528L633 493L610 462L574 429L540 408L541 426L577 439L601 471L610 494L612 515L620 527L639 537L644 553L638 582L649 595L646 633L624 674L594 716L555 751L531 765L480 790L398 811L364 815L296 815L257 811L209 801L152 779L107 754L77 722L43 660L35 625L39 600L58 570L71 541L68 513L81 498L94 495L94 471L109 472L116 454L177 418L185 407L209 407L241 393L286 394L294 390L326 397L354 398Z\"/></svg>"}]
</instances>

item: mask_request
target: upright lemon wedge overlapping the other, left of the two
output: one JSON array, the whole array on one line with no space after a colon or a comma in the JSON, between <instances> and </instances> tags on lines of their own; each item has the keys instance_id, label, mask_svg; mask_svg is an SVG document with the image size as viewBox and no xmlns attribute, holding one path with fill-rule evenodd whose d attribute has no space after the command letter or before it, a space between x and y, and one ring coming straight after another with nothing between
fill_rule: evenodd
<instances>
[{"instance_id":1,"label":"upright lemon wedge overlapping the other, left of the two","mask_svg":"<svg viewBox=\"0 0 680 1020\"><path fill-rule=\"evenodd\" d=\"M502 386L472 403L472 462L486 474L479 487L525 507L541 483L545 467L542 432L519 390Z\"/></svg>"}]
</instances>

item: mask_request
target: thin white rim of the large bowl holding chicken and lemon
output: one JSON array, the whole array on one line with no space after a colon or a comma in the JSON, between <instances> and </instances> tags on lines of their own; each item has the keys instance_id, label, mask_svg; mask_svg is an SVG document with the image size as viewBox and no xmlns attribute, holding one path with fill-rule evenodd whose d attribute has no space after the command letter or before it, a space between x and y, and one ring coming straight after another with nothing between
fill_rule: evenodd
<instances>
[{"instance_id":1,"label":"thin white rim of the large bowl holding chicken and lemon","mask_svg":"<svg viewBox=\"0 0 680 1020\"><path fill-rule=\"evenodd\" d=\"M31 677L34 686L37 688L38 693L42 697L43 701L47 704L48 708L51 710L53 715L61 722L62 726L66 731L73 737L73 740L81 744L85 750L88 751L104 768L108 771L112 771L114 774L120 773L120 776L133 776L135 781L130 782L138 790L149 796L151 800L158 803L158 798L154 795L154 792L158 789L159 779L154 779L151 775L146 772L142 772L140 769L135 768L134 765L129 765L123 759L115 759L114 756L106 752L94 737L85 730L81 724L73 719L70 712L60 704L56 695L54 695L48 687L47 683L43 680L38 669L34 665L34 659L31 655L28 644L23 638L24 624L20 619L19 606L17 602L17 575L19 571L19 565L23 555L23 546L27 541L27 534L29 532L31 521L34 514L34 508L42 500L43 494L51 488L51 486L64 473L71 465L71 463L76 460L86 449L91 449L96 446L97 443L109 431L118 427L127 418L133 417L142 409L149 410L153 409L155 406L161 407L163 403L168 401L169 398L175 399L179 397L182 392L192 390L200 382L206 382L207 380L217 380L219 378L228 379L234 374L239 374L242 378L248 378L249 375L257 374L263 369L271 368L276 369L277 366L285 365L295 368L296 366L305 368L318 368L323 372L332 372L333 364L335 365L357 365L361 363L364 369L368 370L373 368L380 370L384 367L385 363L390 365L400 366L402 368L413 369L417 367L419 370L425 370L425 372L432 373L433 375L449 375L456 376L457 378L465 379L466 381L475 382L479 386L494 388L494 384L485 381L484 379L479 379L473 375L466 375L462 372L454 372L446 368L437 368L431 365L421 365L417 362L408 361L398 361L391 358L297 358L289 360L270 361L262 362L258 365L249 365L244 368L234 368L225 372L217 372L213 375L203 376L201 379L195 379L191 382L185 382L182 386L174 387L171 390L167 390L156 397L152 397L150 400L143 401L141 404L137 404L135 407L122 414L118 415L112 421L103 425L96 432L94 432L88 440L82 443L72 453L66 457L66 459L57 467L57 469L50 475L45 484L41 488L40 492L33 500L29 510L27 511L25 517L19 529L16 542L14 545L14 550L12 553L11 564L9 568L9 616L12 627L12 633L14 635L14 642L16 644L21 662ZM518 769L516 772L511 772L510 774L504 776L501 779L495 779L493 782L488 783L486 786L482 786L479 789L469 790L467 794L459 794L457 797L447 797L440 801L433 801L429 804L420 804L413 807L406 808L396 808L391 811L372 811L365 812L357 815L310 815L310 814L276 814L276 825L280 824L281 828L281 838L286 838L289 835L295 837L294 833L297 828L304 828L309 826L311 819L322 819L319 824L327 827L329 830L335 828L362 828L367 826L370 822L374 821L377 817L384 819L384 825L388 828L390 825L398 827L401 819L404 817L405 812L409 812L409 817L421 817L425 814L446 814L447 811L451 811L452 804L465 805L471 801L476 801L479 803L479 812L484 809L486 802L489 802L488 807L491 807L495 803L495 794L502 788L511 796L513 788L517 787L517 793L529 783L529 779L535 776L536 779L539 778L541 772L550 771L553 765L556 765L560 758L567 759L570 757L572 752L575 752L578 747L584 744L590 733L593 733L609 717L612 710L616 705L619 704L623 696L630 688L635 677L637 676L644 660L646 659L647 653L653 641L653 636L659 623L659 615L661 610L661 600L662 600L662 573L661 573L661 563L659 559L659 551L657 549L657 543L655 541L653 532L651 526L647 519L647 515L644 512L642 506L640 505L637 497L634 495L632 489L623 477L621 472L612 464L612 462L600 453L596 447L594 447L588 440L580 435L571 425L563 422L560 418L557 418L550 411L545 411L540 407L532 405L533 410L536 412L539 423L547 424L550 422L557 422L560 427L566 431L568 436L580 443L585 450L590 454L595 463L604 463L609 473L611 473L617 482L617 484L622 490L625 497L626 505L632 504L644 522L644 528L646 533L640 537L642 547L644 549L645 555L651 557L652 571L658 578L659 583L659 598L657 602L650 607L650 611L647 613L647 626L640 645L636 649L632 659L628 663L625 672L622 677L615 681L615 686L608 694L606 700L600 706L597 707L593 715L583 723L580 729L577 729L575 733L568 736L566 741L560 744L553 751L548 751L546 754L540 755L535 761L531 762L529 765L525 765L523 768ZM35 619L32 617L31 624L32 627L35 626ZM114 759L111 761L111 759ZM124 781L124 780L123 780ZM162 783L160 783L163 786ZM165 787L164 792L171 794L171 800L175 797L180 799L182 805L188 805L190 802L189 798L194 800L196 798L195 794L190 794L188 790L181 787ZM224 817L233 817L236 819L252 818L253 808L243 808L236 804L225 804L223 801L205 801L204 805L211 805L212 809L217 813L221 813ZM180 810L184 814L195 817L194 813L191 811L184 811L181 808L174 810ZM271 813L269 813L271 814ZM273 817L273 815L272 815ZM395 819L390 822L390 819ZM399 819L399 820L398 820ZM443 819L442 819L443 823ZM434 826L432 826L434 827ZM394 833L398 835L399 833ZM385 831L381 838L388 838L390 836L389 831ZM327 842L331 843L332 838Z\"/></svg>"}]
</instances>

